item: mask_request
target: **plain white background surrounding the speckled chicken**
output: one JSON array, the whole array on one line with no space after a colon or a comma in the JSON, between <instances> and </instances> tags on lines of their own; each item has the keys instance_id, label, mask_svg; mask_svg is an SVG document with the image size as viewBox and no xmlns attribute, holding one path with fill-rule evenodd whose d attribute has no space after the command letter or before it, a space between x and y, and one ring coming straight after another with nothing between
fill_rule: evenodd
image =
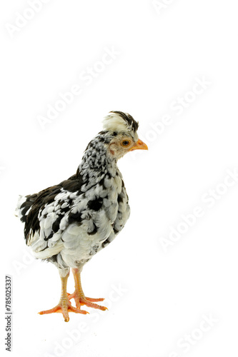
<instances>
[{"instance_id":1,"label":"plain white background surrounding the speckled chicken","mask_svg":"<svg viewBox=\"0 0 238 357\"><path fill-rule=\"evenodd\" d=\"M152 0L51 0L32 14L28 1L1 1L1 347L11 274L11 356L238 353L238 182L225 181L238 168L237 1L160 3L161 10ZM32 15L18 30L17 13ZM109 61L105 49L115 58L99 64ZM79 78L88 67L100 71L90 84ZM194 95L197 79L209 85ZM75 84L81 94L43 129L39 116ZM179 98L181 113L172 107ZM82 273L86 295L107 298L109 311L70 313L69 323L39 316L59 301L60 280L53 265L28 255L17 197L74 174L111 110L139 121L149 151L119 161L132 214ZM164 131L152 129L164 115ZM219 191L213 203L210 189ZM193 226L163 248L161 238L169 241L196 206L203 216L189 216ZM182 348L186 334L192 339Z\"/></svg>"}]
</instances>

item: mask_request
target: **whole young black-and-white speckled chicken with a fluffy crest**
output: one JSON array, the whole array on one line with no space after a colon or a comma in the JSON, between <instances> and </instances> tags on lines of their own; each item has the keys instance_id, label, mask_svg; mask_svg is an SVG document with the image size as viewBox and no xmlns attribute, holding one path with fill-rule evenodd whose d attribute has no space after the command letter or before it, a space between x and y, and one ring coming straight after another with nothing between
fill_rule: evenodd
<instances>
[{"instance_id":1,"label":"whole young black-and-white speckled chicken with a fluffy crest","mask_svg":"<svg viewBox=\"0 0 238 357\"><path fill-rule=\"evenodd\" d=\"M138 122L122 111L111 111L104 130L90 141L76 174L56 186L28 196L19 196L16 216L24 223L27 246L36 258L50 261L59 270L61 298L58 305L40 314L87 313L81 305L106 310L96 304L103 298L88 298L80 274L86 262L122 231L130 214L127 191L116 163L129 151L147 145L138 138ZM75 291L66 292L70 268ZM72 306L74 298L76 307Z\"/></svg>"}]
</instances>

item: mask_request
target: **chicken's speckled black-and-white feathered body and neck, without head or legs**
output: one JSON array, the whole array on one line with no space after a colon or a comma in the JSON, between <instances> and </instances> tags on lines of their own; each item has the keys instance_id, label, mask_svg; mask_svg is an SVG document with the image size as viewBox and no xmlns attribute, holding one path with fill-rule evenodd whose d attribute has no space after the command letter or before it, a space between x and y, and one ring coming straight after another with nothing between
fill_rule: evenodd
<instances>
[{"instance_id":1,"label":"chicken's speckled black-and-white feathered body and neck, without head or legs","mask_svg":"<svg viewBox=\"0 0 238 357\"><path fill-rule=\"evenodd\" d=\"M106 158L100 139L91 141L74 176L20 201L27 244L36 258L54 263L61 276L70 267L81 269L129 218L122 174L115 159Z\"/></svg>"}]
</instances>

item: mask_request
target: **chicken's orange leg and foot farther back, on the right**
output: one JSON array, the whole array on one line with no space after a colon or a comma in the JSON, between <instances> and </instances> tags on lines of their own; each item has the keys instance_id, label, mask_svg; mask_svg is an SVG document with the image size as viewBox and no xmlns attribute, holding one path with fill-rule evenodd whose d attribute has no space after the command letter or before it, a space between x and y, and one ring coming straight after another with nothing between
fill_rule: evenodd
<instances>
[{"instance_id":1,"label":"chicken's orange leg and foot farther back, on the right","mask_svg":"<svg viewBox=\"0 0 238 357\"><path fill-rule=\"evenodd\" d=\"M77 268L72 268L72 272L74 274L74 282L75 282L75 291L71 295L68 296L69 300L74 298L76 303L76 308L80 308L81 305L89 306L90 308L99 308L99 310L107 310L106 306L97 305L94 302L104 301L104 298L86 298L84 295L84 291L81 288L81 278L80 271Z\"/></svg>"}]
</instances>

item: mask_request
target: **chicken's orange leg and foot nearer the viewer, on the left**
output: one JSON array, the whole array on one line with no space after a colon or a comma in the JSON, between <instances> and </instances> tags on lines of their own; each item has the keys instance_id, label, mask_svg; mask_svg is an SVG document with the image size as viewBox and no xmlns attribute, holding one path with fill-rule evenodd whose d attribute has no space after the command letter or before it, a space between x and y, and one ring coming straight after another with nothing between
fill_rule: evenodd
<instances>
[{"instance_id":1,"label":"chicken's orange leg and foot nearer the viewer, on the left","mask_svg":"<svg viewBox=\"0 0 238 357\"><path fill-rule=\"evenodd\" d=\"M87 311L81 310L80 305L77 306L77 308L74 308L74 306L71 305L68 294L66 292L68 278L69 278L69 273L65 277L61 276L61 297L58 305L54 306L54 308L51 308L50 310L40 311L39 312L40 315L44 315L46 313L62 313L64 316L64 321L68 322L69 312L84 313L84 314L88 313Z\"/></svg>"}]
</instances>

